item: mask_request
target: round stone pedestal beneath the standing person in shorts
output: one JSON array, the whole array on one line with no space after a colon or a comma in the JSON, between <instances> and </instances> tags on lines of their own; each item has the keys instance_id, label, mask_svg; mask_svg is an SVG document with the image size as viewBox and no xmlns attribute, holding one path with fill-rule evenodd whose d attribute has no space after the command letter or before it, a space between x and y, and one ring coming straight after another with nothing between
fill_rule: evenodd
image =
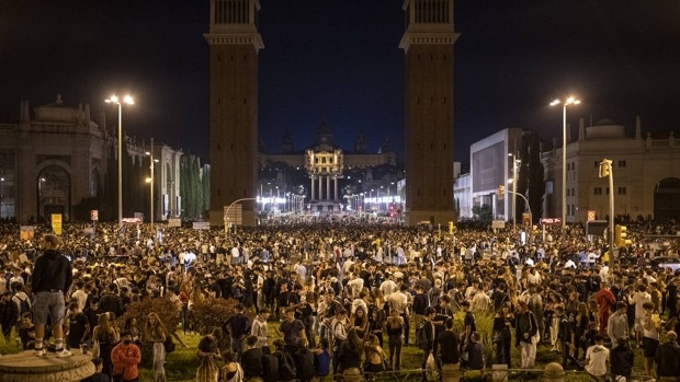
<instances>
[{"instance_id":1,"label":"round stone pedestal beneath the standing person in shorts","mask_svg":"<svg viewBox=\"0 0 680 382\"><path fill-rule=\"evenodd\" d=\"M36 357L33 350L0 357L0 382L76 382L94 374L89 355Z\"/></svg>"}]
</instances>

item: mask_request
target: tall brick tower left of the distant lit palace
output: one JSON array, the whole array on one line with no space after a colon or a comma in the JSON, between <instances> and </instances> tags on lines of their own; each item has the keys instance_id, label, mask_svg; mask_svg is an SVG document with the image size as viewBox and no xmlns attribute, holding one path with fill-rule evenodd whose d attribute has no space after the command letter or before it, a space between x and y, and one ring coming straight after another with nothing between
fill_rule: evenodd
<instances>
[{"instance_id":1,"label":"tall brick tower left of the distant lit palace","mask_svg":"<svg viewBox=\"0 0 680 382\"><path fill-rule=\"evenodd\" d=\"M211 224L224 208L256 197L258 176L258 0L211 0ZM236 208L235 210L238 210ZM241 223L254 225L254 201L242 201ZM230 211L231 212L231 211ZM234 222L234 221L231 221Z\"/></svg>"}]
</instances>

